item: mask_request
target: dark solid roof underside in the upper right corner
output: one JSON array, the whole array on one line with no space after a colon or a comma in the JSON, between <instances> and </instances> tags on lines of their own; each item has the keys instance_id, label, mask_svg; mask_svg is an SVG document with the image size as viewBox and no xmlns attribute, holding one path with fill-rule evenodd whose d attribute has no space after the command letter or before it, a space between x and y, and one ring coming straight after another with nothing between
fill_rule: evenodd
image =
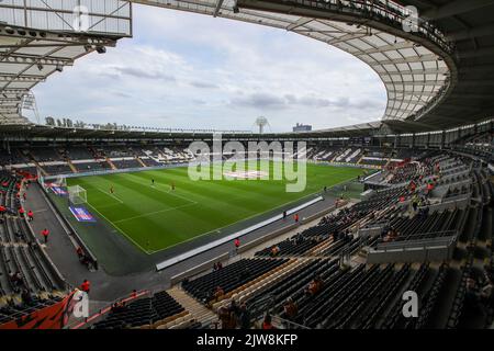
<instances>
[{"instance_id":1,"label":"dark solid roof underside in the upper right corner","mask_svg":"<svg viewBox=\"0 0 494 351\"><path fill-rule=\"evenodd\" d=\"M415 5L454 43L458 79L446 99L417 122L437 128L494 115L494 1L401 0Z\"/></svg>"}]
</instances>

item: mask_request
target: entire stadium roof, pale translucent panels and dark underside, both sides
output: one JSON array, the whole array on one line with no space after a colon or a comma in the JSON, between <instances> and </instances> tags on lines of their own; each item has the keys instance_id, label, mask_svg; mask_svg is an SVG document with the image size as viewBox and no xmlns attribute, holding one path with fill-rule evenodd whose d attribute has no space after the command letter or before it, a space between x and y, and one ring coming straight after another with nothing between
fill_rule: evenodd
<instances>
[{"instance_id":1,"label":"entire stadium roof, pale translucent panels and dark underside, both sides","mask_svg":"<svg viewBox=\"0 0 494 351\"><path fill-rule=\"evenodd\" d=\"M130 2L278 27L348 52L384 82L383 122L395 131L447 128L494 112L493 0L102 0L87 2L86 32L71 24L78 1L24 8L23 0L11 0L0 3L7 23L0 24L0 124L25 122L20 107L34 84L131 36ZM413 10L403 5L418 8L417 26ZM339 129L361 131L353 127Z\"/></svg>"}]
</instances>

